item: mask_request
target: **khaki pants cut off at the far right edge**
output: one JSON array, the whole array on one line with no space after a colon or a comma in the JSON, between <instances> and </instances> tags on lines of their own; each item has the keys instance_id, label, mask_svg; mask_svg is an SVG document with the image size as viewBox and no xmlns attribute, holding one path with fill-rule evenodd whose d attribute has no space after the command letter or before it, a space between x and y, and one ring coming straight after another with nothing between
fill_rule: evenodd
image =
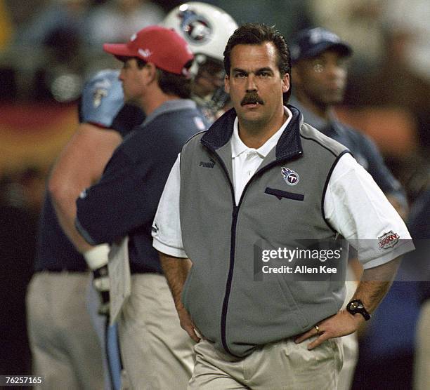
<instances>
[{"instance_id":1,"label":"khaki pants cut off at the far right edge","mask_svg":"<svg viewBox=\"0 0 430 390\"><path fill-rule=\"evenodd\" d=\"M430 389L430 300L422 305L417 325L414 389Z\"/></svg>"}]
</instances>

